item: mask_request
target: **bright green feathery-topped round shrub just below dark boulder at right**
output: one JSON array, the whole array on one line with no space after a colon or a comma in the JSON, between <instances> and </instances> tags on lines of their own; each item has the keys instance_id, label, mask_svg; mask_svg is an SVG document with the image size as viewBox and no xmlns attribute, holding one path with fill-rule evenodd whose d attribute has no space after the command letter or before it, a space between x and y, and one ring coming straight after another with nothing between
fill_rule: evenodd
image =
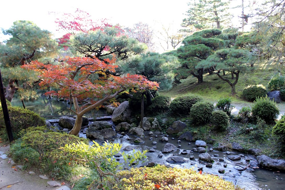
<instances>
[{"instance_id":1,"label":"bright green feathery-topped round shrub just below dark boulder at right","mask_svg":"<svg viewBox=\"0 0 285 190\"><path fill-rule=\"evenodd\" d=\"M254 101L251 107L253 117L263 119L266 123L274 123L279 114L279 109L276 103L270 98L260 97Z\"/></svg>"}]
</instances>

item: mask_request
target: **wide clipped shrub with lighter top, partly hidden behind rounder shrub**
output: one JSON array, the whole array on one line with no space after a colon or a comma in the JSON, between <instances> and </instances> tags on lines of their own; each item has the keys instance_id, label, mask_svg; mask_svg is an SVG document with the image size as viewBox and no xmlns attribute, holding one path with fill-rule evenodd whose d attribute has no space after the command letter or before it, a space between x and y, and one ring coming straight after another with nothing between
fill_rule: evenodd
<instances>
[{"instance_id":1,"label":"wide clipped shrub with lighter top, partly hidden behind rounder shrub","mask_svg":"<svg viewBox=\"0 0 285 190\"><path fill-rule=\"evenodd\" d=\"M200 95L189 94L187 96L175 98L170 103L169 109L173 115L189 115L192 105L200 101L203 101L203 98Z\"/></svg>"}]
</instances>

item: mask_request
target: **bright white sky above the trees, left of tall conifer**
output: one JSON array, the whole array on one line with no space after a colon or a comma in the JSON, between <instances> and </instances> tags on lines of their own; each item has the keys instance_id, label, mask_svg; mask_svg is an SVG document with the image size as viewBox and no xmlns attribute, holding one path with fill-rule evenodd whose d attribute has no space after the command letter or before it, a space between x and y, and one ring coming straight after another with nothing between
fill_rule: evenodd
<instances>
[{"instance_id":1,"label":"bright white sky above the trees, left of tall conifer","mask_svg":"<svg viewBox=\"0 0 285 190\"><path fill-rule=\"evenodd\" d=\"M17 20L28 20L34 22L40 28L52 32L55 38L62 34L56 31L56 16L48 14L74 13L76 9L86 11L92 20L109 19L111 24L132 27L138 22L148 23L155 28L157 23L174 22L179 26L185 13L189 9L189 0L46 0L46 1L13 1L5 0L0 3L0 28L8 29ZM7 36L0 35L0 42Z\"/></svg>"}]
</instances>

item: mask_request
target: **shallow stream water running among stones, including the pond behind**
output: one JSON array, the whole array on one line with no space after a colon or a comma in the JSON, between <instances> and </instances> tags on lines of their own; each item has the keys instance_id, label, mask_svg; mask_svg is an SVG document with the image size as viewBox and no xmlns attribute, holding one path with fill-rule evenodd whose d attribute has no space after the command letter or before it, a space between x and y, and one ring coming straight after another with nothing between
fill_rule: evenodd
<instances>
[{"instance_id":1,"label":"shallow stream water running among stones, including the pond behind","mask_svg":"<svg viewBox=\"0 0 285 190\"><path fill-rule=\"evenodd\" d=\"M66 102L61 102L57 100L47 100L44 98L38 99L37 101L29 101L25 102L26 108L30 109L39 115L43 116L45 119L57 119L64 115L73 115L67 108L70 106ZM12 106L22 107L21 101L13 100ZM233 114L237 114L238 110L245 105L235 105L235 109L232 111ZM283 109L284 110L284 109ZM284 114L284 111L280 112L280 115ZM93 112L88 113L85 117L100 117L106 116L104 110L95 110ZM279 115L279 118L280 118ZM109 122L115 127L113 122L109 120ZM210 151L211 145L207 145L207 153L209 153L213 160L213 166L208 168L205 164L199 161L198 152L193 152L192 148L195 148L195 142L186 142L181 141L178 143L178 139L176 136L169 135L168 142L174 144L176 147L179 147L176 151L170 153L161 153L162 148L167 142L160 142L160 138L164 136L160 134L160 132L154 132L154 135L149 135L148 132L145 132L145 137L143 138L144 143L137 144L134 143L135 136L131 134L126 134L121 136L121 134L117 134L117 137L114 138L113 142L122 144L123 148L127 146L135 146L135 150L150 150L151 148L155 149L155 152L147 152L146 156L148 157L148 162L155 162L160 164L165 164L172 167L181 167L181 168L193 168L197 170L198 168L203 167L203 173L211 173L213 175L218 175L224 178L227 181L233 182L235 185L239 185L240 187L244 187L246 190L285 190L285 173L284 171L274 171L269 169L258 168L257 161L255 156L244 154L244 157L241 157L241 160L232 161L227 158L227 154L225 152L219 151ZM157 137L155 137L157 135ZM84 133L84 128L80 132L80 136L86 138L86 134ZM149 140L152 137L152 140ZM172 140L174 138L174 140ZM152 142L156 141L157 144L153 145ZM90 141L92 142L92 140ZM155 147L156 148L155 148ZM123 149L122 148L122 149ZM181 154L182 150L186 150L187 154ZM162 157L159 158L158 154L162 154ZM168 163L166 159L173 154L177 154L177 156L184 157L186 162L184 163ZM230 155L239 155L241 153L231 152ZM242 153L243 154L243 153ZM194 156L194 159L190 160L190 156ZM247 160L250 160L247 161ZM223 165L227 164L227 167ZM250 166L249 166L250 165ZM243 171L238 171L239 168L245 168L249 166L247 169ZM225 173L221 174L218 172L219 169L225 169Z\"/></svg>"}]
</instances>

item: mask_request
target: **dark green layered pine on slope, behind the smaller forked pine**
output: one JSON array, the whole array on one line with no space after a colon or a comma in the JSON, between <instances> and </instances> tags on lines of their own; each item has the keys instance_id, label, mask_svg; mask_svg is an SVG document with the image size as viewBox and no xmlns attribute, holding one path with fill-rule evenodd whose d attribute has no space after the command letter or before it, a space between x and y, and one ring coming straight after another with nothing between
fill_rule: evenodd
<instances>
[{"instance_id":1,"label":"dark green layered pine on slope, behind the smaller forked pine","mask_svg":"<svg viewBox=\"0 0 285 190\"><path fill-rule=\"evenodd\" d=\"M224 48L224 40L219 37L221 32L218 29L202 30L195 32L182 41L183 46L177 49L177 56L182 64L182 67L176 70L177 81L192 74L197 77L198 83L203 82L203 74L208 70L203 67L198 68L197 65L219 48Z\"/></svg>"}]
</instances>

